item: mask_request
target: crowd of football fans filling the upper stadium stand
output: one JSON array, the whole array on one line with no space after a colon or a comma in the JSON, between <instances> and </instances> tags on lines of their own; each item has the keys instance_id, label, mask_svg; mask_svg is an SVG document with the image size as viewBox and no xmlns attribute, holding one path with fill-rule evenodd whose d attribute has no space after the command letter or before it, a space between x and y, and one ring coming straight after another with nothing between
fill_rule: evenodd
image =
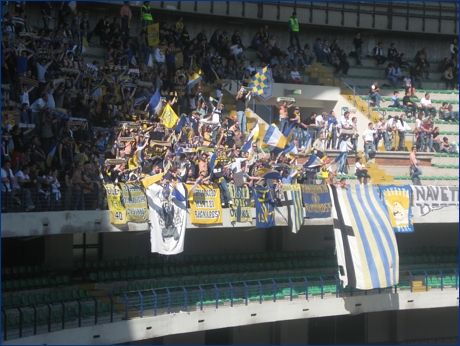
<instances>
[{"instance_id":1,"label":"crowd of football fans filling the upper stadium stand","mask_svg":"<svg viewBox=\"0 0 460 346\"><path fill-rule=\"evenodd\" d=\"M257 68L265 66L271 67L275 82L300 84L297 68L310 66L314 60L328 61L335 66L336 73L347 74L350 64L337 40L329 47L327 40L318 39L313 50L309 44L301 49L298 35L293 34L297 44L282 51L276 36L265 25L249 45L256 50L260 64L256 66L250 61L246 65L245 46L238 29L231 36L226 30L217 29L209 40L205 30L192 37L183 17L170 27L166 22L160 23L159 44L149 46L147 27L153 18L148 2L141 8L142 30L137 42L130 37L130 23L135 19L129 2L120 8L119 15L105 15L94 28L88 20L89 12L80 11L78 5L74 12L69 3L44 2L44 28L38 32L28 25L26 3L16 2L14 6L14 12L4 12L2 21L3 209L10 208L8 204L17 205L22 211L104 209L107 203L103 183L137 183L145 176L162 172L168 172L162 184L172 180L218 183L225 206L232 203L227 184L235 181L235 167L242 172L242 180L238 178L237 183L248 186L260 183L259 169L279 170L281 179L273 182L278 191L292 179L311 183L316 176L316 169L297 165L296 155L274 155L262 149L260 139L242 150L248 139L244 114L251 97L248 84ZM51 29L52 20L57 21L55 29ZM85 42L96 37L107 49L103 65L85 61L81 56ZM392 69L409 67L404 65L404 54L395 55L394 45L391 49L392 58L388 59L392 60ZM178 53L183 55L182 66L176 66ZM357 47L358 64L360 54ZM429 64L426 51L419 55L422 63L414 69L421 76L429 72L424 67L429 69ZM153 67L150 59L154 61ZM458 73L455 59L456 56L447 59L444 64L453 76ZM215 98L205 99L201 83L191 83L196 66L202 71L201 83L213 87ZM226 117L221 95L223 84L229 79L240 81L242 88L235 98L237 113ZM412 79L412 74L409 84L406 79L403 83L410 98L415 92L412 80L418 80ZM162 124L161 112L155 111L157 105L151 103L156 90L160 90L164 106L183 113L177 126L166 128ZM371 97L377 105L378 91L376 83L371 92L375 95ZM397 92L395 96L396 101ZM428 102L422 100L418 107L405 99L404 107L423 110L428 118L417 124L419 133L424 134L421 145L431 150L439 144L439 150L458 151L443 144L439 131L437 135L436 128L427 125L430 114L436 115ZM429 100L429 94L426 99ZM449 107L443 105L442 117L458 119L458 112ZM404 116L388 121L382 117L378 124L369 123L360 135L357 118L350 116L350 112L340 117L333 111L302 116L292 101L277 104L277 108L282 132L295 123L290 138L299 155L310 153L312 143L312 152L324 160L322 171L330 173L326 174L326 182L343 187L346 183L341 175L345 174L347 155L335 165L327 158L327 150L338 149L345 154L351 150L357 154L362 138L365 158L369 160L381 140L386 150L391 149L392 143L396 149L396 134L398 149L403 150L404 134L410 130ZM20 123L11 125L14 118L19 118ZM214 167L209 165L209 148L214 148L218 157ZM338 171L338 182L334 180L334 170ZM363 178L370 178L359 160L355 173L361 183Z\"/></svg>"}]
</instances>

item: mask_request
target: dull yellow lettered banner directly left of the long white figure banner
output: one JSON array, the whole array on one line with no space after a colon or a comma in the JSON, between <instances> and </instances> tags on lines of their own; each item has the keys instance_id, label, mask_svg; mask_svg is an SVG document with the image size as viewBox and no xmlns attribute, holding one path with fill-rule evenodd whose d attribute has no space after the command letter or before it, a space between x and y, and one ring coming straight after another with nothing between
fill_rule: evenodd
<instances>
[{"instance_id":1,"label":"dull yellow lettered banner directly left of the long white figure banner","mask_svg":"<svg viewBox=\"0 0 460 346\"><path fill-rule=\"evenodd\" d=\"M121 200L126 208L126 221L142 223L148 221L147 198L139 184L119 183Z\"/></svg>"}]
</instances>

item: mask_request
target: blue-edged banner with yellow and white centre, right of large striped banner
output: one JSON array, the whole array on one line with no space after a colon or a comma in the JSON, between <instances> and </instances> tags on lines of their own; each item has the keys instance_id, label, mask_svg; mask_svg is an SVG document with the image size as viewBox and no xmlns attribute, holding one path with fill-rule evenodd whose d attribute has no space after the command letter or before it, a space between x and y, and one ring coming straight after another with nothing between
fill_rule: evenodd
<instances>
[{"instance_id":1,"label":"blue-edged banner with yellow and white centre, right of large striped banner","mask_svg":"<svg viewBox=\"0 0 460 346\"><path fill-rule=\"evenodd\" d=\"M379 189L380 197L388 210L393 230L396 233L413 232L410 185L379 185Z\"/></svg>"}]
</instances>

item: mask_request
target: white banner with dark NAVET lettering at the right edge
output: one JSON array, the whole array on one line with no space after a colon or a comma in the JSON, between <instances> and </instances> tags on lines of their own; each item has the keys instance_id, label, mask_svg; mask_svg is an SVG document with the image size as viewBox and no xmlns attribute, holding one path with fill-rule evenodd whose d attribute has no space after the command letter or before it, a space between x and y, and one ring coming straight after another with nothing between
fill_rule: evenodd
<instances>
[{"instance_id":1,"label":"white banner with dark NAVET lettering at the right edge","mask_svg":"<svg viewBox=\"0 0 460 346\"><path fill-rule=\"evenodd\" d=\"M458 186L417 186L412 185L414 205L420 216L444 207L458 208Z\"/></svg>"}]
</instances>

